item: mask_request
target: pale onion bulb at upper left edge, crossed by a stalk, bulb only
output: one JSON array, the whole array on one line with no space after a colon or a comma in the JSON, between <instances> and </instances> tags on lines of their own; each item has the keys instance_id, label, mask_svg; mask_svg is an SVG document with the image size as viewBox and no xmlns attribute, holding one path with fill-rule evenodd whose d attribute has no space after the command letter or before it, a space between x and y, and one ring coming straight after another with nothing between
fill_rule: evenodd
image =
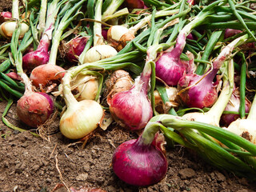
<instances>
[{"instance_id":1,"label":"pale onion bulb at upper left edge, crossed by a stalk, bulb only","mask_svg":"<svg viewBox=\"0 0 256 192\"><path fill-rule=\"evenodd\" d=\"M21 25L21 28L20 28L21 32L18 38L23 38L24 34L26 34L26 31L28 31L30 27L26 25L26 23L24 22L20 23L20 25ZM16 26L17 26L17 22L14 22L14 21L3 22L0 26L0 34L4 38L11 38L14 33L14 30L16 30Z\"/></svg>"}]
</instances>

